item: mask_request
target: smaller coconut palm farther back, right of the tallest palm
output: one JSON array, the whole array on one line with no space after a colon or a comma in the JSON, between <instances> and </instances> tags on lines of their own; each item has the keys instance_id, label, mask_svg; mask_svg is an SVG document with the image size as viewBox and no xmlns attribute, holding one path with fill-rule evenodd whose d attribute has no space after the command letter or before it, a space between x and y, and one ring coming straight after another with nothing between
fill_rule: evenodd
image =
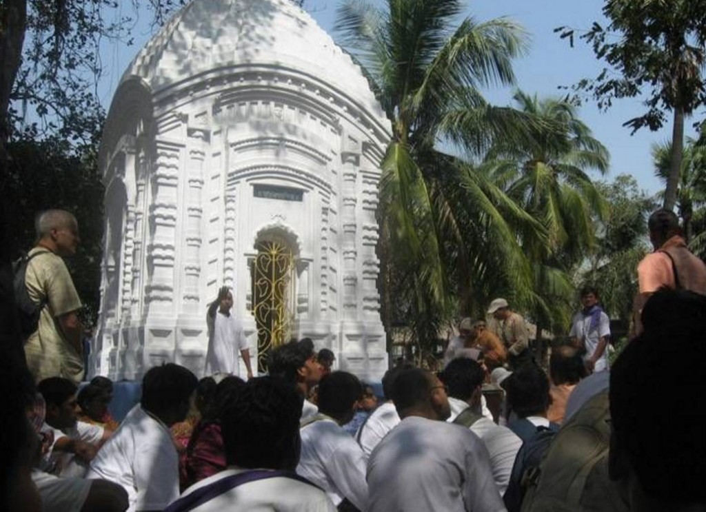
<instances>
[{"instance_id":1,"label":"smaller coconut palm farther back, right of the tallest palm","mask_svg":"<svg viewBox=\"0 0 706 512\"><path fill-rule=\"evenodd\" d=\"M595 246L597 221L606 202L587 171L606 173L608 150L563 99L539 99L517 91L517 108L559 130L532 138L498 138L486 153L489 175L522 209L539 219L549 236L526 233L522 247L534 269L533 317L537 324L568 323L573 285L570 271Z\"/></svg>"}]
</instances>

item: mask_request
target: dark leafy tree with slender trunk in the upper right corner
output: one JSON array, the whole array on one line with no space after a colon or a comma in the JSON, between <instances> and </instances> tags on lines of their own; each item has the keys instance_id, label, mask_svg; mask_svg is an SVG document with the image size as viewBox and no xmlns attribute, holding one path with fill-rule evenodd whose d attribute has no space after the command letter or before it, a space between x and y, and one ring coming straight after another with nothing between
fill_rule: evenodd
<instances>
[{"instance_id":1,"label":"dark leafy tree with slender trunk in the upper right corner","mask_svg":"<svg viewBox=\"0 0 706 512\"><path fill-rule=\"evenodd\" d=\"M624 123L633 130L657 130L674 116L672 157L664 207L676 202L683 150L684 118L706 102L706 0L606 0L609 24L593 23L580 35L608 66L574 86L602 108L614 99L645 97L647 111ZM573 44L575 30L559 27ZM617 73L616 73L617 72Z\"/></svg>"}]
</instances>

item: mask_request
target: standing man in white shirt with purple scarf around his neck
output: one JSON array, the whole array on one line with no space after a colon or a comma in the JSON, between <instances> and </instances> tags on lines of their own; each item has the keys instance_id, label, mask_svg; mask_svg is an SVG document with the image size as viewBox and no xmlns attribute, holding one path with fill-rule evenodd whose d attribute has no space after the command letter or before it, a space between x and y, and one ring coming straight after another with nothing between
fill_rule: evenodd
<instances>
[{"instance_id":1,"label":"standing man in white shirt with purple scarf around his neck","mask_svg":"<svg viewBox=\"0 0 706 512\"><path fill-rule=\"evenodd\" d=\"M581 289L583 309L574 315L569 336L576 348L585 350L584 360L589 372L608 370L608 338L611 321L598 305L598 291L593 286Z\"/></svg>"}]
</instances>

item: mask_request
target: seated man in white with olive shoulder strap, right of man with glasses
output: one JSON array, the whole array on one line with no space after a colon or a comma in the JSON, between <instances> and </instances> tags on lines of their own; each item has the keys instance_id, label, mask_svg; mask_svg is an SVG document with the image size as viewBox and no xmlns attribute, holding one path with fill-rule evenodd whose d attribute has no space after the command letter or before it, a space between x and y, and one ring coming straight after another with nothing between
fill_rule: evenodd
<instances>
[{"instance_id":1,"label":"seated man in white with olive shoulder strap, right of man with glasses","mask_svg":"<svg viewBox=\"0 0 706 512\"><path fill-rule=\"evenodd\" d=\"M502 496L508 488L510 473L513 470L515 456L522 446L522 439L507 427L496 425L492 420L481 415L481 396L483 394L484 371L474 360L455 359L445 367L441 379L448 386L448 401L453 412L448 421L463 425L480 437L490 455L493 480Z\"/></svg>"}]
</instances>

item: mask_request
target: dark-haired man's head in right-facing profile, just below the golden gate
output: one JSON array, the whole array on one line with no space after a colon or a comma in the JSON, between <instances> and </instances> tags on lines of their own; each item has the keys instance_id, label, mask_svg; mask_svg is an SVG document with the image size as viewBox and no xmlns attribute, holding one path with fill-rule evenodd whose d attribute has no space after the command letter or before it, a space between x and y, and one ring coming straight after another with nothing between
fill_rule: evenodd
<instances>
[{"instance_id":1,"label":"dark-haired man's head in right-facing profile, just below the golden gate","mask_svg":"<svg viewBox=\"0 0 706 512\"><path fill-rule=\"evenodd\" d=\"M323 373L323 367L316 359L316 351L310 338L290 341L276 347L270 353L268 370L270 375L281 377L294 384L304 398L301 407L302 420L318 413L316 405L306 400L309 391L318 384Z\"/></svg>"}]
</instances>

